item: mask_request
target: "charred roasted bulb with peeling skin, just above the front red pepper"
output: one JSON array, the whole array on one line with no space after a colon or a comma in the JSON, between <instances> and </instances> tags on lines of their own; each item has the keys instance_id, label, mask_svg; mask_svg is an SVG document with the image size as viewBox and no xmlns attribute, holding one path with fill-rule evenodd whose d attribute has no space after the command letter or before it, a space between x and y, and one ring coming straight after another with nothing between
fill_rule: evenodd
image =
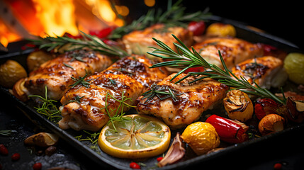
<instances>
[{"instance_id":1,"label":"charred roasted bulb with peeling skin, just above the front red pepper","mask_svg":"<svg viewBox=\"0 0 304 170\"><path fill-rule=\"evenodd\" d=\"M244 123L252 118L254 106L249 96L244 92L240 90L228 91L223 103L230 119Z\"/></svg>"}]
</instances>

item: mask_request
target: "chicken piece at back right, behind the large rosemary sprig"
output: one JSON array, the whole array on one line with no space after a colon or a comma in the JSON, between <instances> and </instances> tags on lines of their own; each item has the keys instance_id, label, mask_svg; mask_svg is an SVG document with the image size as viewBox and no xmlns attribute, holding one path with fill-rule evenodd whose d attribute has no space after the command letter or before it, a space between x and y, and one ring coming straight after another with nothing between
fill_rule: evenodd
<instances>
[{"instance_id":1,"label":"chicken piece at back right, behind the large rosemary sprig","mask_svg":"<svg viewBox=\"0 0 304 170\"><path fill-rule=\"evenodd\" d=\"M223 69L218 51L223 57L228 69L235 64L254 57L261 57L264 53L261 45L252 44L239 38L208 38L193 46L194 49L209 63Z\"/></svg>"}]
</instances>

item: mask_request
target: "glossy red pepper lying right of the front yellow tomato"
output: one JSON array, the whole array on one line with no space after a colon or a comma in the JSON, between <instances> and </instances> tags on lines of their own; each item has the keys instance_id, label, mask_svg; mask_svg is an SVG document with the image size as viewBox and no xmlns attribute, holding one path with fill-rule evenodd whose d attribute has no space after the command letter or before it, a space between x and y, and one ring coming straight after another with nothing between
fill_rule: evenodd
<instances>
[{"instance_id":1,"label":"glossy red pepper lying right of the front yellow tomato","mask_svg":"<svg viewBox=\"0 0 304 170\"><path fill-rule=\"evenodd\" d=\"M213 125L215 131L218 132L220 136L220 140L230 143L240 143L248 140L248 135L242 127L244 123L237 123L237 121L229 120L218 115L211 115L207 118L206 123Z\"/></svg>"}]
</instances>

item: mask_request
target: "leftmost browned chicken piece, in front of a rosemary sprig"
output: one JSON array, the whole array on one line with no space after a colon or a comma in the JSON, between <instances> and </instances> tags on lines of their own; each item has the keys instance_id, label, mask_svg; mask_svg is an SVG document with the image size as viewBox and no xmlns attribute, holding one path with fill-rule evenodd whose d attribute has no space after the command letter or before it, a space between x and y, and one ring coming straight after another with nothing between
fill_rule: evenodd
<instances>
[{"instance_id":1,"label":"leftmost browned chicken piece, in front of a rosemary sprig","mask_svg":"<svg viewBox=\"0 0 304 170\"><path fill-rule=\"evenodd\" d=\"M74 84L72 77L78 79L86 74L101 72L111 64L110 57L98 52L88 50L66 52L30 72L24 82L26 93L45 96L45 86L47 86L47 98L60 100Z\"/></svg>"}]
</instances>

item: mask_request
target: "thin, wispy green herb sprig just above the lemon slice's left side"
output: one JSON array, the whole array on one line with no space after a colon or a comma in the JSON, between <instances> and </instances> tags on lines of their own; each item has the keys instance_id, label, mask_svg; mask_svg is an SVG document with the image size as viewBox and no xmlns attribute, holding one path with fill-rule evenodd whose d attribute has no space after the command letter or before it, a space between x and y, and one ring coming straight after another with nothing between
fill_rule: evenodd
<instances>
[{"instance_id":1,"label":"thin, wispy green herb sprig just above the lemon slice's left side","mask_svg":"<svg viewBox=\"0 0 304 170\"><path fill-rule=\"evenodd\" d=\"M115 108L115 109L113 109L111 111L108 110L108 106L110 105L108 103L108 97L109 96L111 98L113 98L114 100L116 100L116 101L119 102L118 108ZM123 113L124 107L135 108L135 106L131 106L130 104L126 103L127 101L132 101L132 98L127 98L125 96L125 91L122 91L120 100L118 98L115 98L114 96L112 96L111 94L109 94L107 92L107 94L106 94L106 100L105 100L105 107L104 108L100 108L100 110L101 109L105 109L106 110L106 113L108 114L108 117L110 118L110 120L108 121L108 123L112 123L115 132L117 132L117 130L116 130L116 127L115 127L115 125L113 123L114 120L117 120L117 121L128 120L126 118L123 118L123 115L125 115L125 113ZM113 111L116 111L115 115L111 114L111 113L113 113ZM119 113L119 111L120 111L120 113Z\"/></svg>"}]
</instances>

